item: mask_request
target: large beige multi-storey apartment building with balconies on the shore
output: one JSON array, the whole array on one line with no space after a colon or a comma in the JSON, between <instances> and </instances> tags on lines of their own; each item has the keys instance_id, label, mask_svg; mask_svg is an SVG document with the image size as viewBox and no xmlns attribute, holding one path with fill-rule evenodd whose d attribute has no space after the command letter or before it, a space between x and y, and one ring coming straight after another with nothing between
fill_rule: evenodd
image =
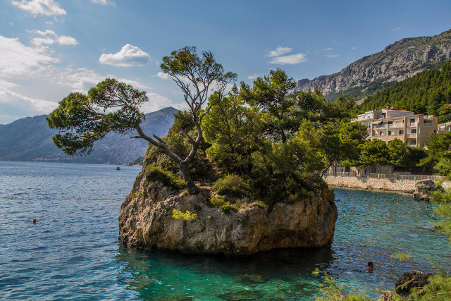
<instances>
[{"instance_id":1,"label":"large beige multi-storey apartment building with balconies on the shore","mask_svg":"<svg viewBox=\"0 0 451 301\"><path fill-rule=\"evenodd\" d=\"M411 147L424 147L429 135L437 133L438 125L437 116L415 114L394 106L367 111L351 122L366 125L371 140L390 142L397 138Z\"/></svg>"}]
</instances>

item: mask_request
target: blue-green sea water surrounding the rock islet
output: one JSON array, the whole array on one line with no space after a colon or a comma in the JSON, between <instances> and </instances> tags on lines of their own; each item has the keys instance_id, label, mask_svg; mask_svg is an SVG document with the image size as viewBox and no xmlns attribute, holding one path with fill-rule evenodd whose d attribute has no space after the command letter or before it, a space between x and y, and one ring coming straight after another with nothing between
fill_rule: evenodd
<instances>
[{"instance_id":1,"label":"blue-green sea water surrounding the rock islet","mask_svg":"<svg viewBox=\"0 0 451 301\"><path fill-rule=\"evenodd\" d=\"M403 271L432 269L431 259L450 268L431 204L358 190L335 190L335 240L319 250L233 258L124 247L118 212L140 167L121 168L0 161L0 298L309 300L317 267L376 297ZM397 252L413 263L397 262ZM369 260L376 269L364 273Z\"/></svg>"}]
</instances>

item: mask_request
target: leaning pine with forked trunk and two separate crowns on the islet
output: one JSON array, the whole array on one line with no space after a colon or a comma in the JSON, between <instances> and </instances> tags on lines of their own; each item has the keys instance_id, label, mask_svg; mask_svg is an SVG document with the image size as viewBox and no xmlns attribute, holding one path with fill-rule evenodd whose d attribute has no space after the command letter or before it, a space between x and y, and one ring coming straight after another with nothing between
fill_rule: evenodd
<instances>
[{"instance_id":1,"label":"leaning pine with forked trunk and two separate crowns on the islet","mask_svg":"<svg viewBox=\"0 0 451 301\"><path fill-rule=\"evenodd\" d=\"M182 90L188 107L187 115L195 128L194 135L178 128L178 135L182 135L191 145L186 156L177 154L160 137L150 137L143 132L140 123L144 114L140 111L140 106L148 101L145 92L109 78L99 82L87 95L69 94L50 114L47 118L49 127L59 131L53 138L56 146L70 155L89 154L94 142L104 138L107 133L136 130L137 135L132 138L142 138L161 149L180 168L187 191L197 194L199 188L190 176L189 166L197 149L204 142L202 121L211 108L223 99L228 84L235 80L236 74L226 73L209 51L202 52L199 56L195 47L184 47L173 51L171 56L165 56L161 70ZM212 92L216 94L216 101L207 104Z\"/></svg>"}]
</instances>

